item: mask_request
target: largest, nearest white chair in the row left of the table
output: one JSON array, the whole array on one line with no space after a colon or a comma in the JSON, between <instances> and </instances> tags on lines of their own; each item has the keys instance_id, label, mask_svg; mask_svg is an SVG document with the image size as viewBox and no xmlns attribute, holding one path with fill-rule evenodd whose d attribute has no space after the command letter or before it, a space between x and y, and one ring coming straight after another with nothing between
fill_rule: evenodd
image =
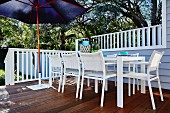
<instances>
[{"instance_id":1,"label":"largest, nearest white chair in the row left of the table","mask_svg":"<svg viewBox=\"0 0 170 113\"><path fill-rule=\"evenodd\" d=\"M80 53L80 59L82 61L82 81L80 89L80 99L82 99L84 78L102 80L102 94L100 106L103 107L106 80L108 78L115 77L116 73L106 71L106 63L103 59L102 52ZM89 73L89 71L91 73Z\"/></svg>"}]
</instances>

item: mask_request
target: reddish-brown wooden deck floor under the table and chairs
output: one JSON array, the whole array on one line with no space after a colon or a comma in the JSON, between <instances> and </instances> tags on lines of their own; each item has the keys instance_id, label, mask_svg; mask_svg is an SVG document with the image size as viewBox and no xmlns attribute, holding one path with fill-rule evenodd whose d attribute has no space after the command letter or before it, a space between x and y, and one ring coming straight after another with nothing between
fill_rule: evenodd
<instances>
[{"instance_id":1,"label":"reddish-brown wooden deck floor under the table and chairs","mask_svg":"<svg viewBox=\"0 0 170 113\"><path fill-rule=\"evenodd\" d=\"M170 91L163 90L164 102L160 101L158 89L154 89L157 110L152 110L149 92L139 91L127 96L127 84L124 84L124 108L116 105L116 87L109 82L109 90L105 92L104 107L100 107L101 85L99 93L94 92L93 84L85 85L83 99L75 98L75 85L68 84L65 92L58 93L58 84L54 88L33 91L26 86L37 82L20 83L0 88L0 113L170 113ZM56 88L56 89L55 89Z\"/></svg>"}]
</instances>

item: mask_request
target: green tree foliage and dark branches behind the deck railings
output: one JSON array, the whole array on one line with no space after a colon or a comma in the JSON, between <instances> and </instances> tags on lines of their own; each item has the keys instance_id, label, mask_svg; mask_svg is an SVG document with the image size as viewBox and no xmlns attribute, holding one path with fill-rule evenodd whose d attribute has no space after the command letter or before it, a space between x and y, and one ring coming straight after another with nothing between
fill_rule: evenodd
<instances>
[{"instance_id":1,"label":"green tree foliage and dark branches behind the deck railings","mask_svg":"<svg viewBox=\"0 0 170 113\"><path fill-rule=\"evenodd\" d=\"M76 38L161 23L162 5L158 0L77 0L77 2L88 8L85 15L67 25L40 25L41 48L74 50ZM0 45L37 48L36 25L0 17Z\"/></svg>"}]
</instances>

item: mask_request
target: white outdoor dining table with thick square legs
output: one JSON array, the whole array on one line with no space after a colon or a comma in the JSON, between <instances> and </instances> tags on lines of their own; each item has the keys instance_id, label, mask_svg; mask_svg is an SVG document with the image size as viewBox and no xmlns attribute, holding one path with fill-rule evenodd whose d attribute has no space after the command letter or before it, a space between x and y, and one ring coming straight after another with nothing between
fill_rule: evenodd
<instances>
[{"instance_id":1,"label":"white outdoor dining table with thick square legs","mask_svg":"<svg viewBox=\"0 0 170 113\"><path fill-rule=\"evenodd\" d=\"M144 56L117 56L105 57L105 61L117 61L117 106L123 108L123 62L141 61L145 62ZM145 64L141 64L141 72L145 72ZM145 81L141 80L141 93L145 93Z\"/></svg>"}]
</instances>

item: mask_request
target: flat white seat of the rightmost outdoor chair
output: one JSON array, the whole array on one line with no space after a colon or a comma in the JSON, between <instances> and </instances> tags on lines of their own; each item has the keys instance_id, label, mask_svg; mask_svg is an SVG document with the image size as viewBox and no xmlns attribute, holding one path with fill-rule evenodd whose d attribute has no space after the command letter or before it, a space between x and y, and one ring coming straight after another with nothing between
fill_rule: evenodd
<instances>
[{"instance_id":1,"label":"flat white seat of the rightmost outdoor chair","mask_svg":"<svg viewBox=\"0 0 170 113\"><path fill-rule=\"evenodd\" d=\"M156 77L156 75L149 75L150 78L154 78ZM133 72L130 72L130 73L125 73L123 75L123 77L128 77L128 78L137 78L137 79L142 79L142 80L147 80L147 77L148 75L147 74L144 74L144 73L133 73Z\"/></svg>"}]
</instances>

